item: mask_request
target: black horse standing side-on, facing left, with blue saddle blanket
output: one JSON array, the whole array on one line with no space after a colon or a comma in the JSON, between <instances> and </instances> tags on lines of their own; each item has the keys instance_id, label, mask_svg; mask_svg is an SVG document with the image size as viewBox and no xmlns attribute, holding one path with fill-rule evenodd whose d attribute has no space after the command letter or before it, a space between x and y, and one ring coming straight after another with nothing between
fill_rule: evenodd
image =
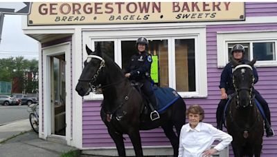
<instances>
[{"instance_id":1,"label":"black horse standing side-on, facing left, with blue saddle blanket","mask_svg":"<svg viewBox=\"0 0 277 157\"><path fill-rule=\"evenodd\" d=\"M104 100L100 115L107 126L109 135L116 143L119 156L126 156L123 134L128 134L134 146L136 156L143 156L141 136L139 130L163 128L174 149L174 156L178 156L179 135L181 127L186 123L186 104L179 97L160 118L151 121L150 116L141 114L144 108L141 94L130 85L120 67L109 56L101 52L100 46L92 52L86 46L87 60L75 90L80 96L89 92L102 90ZM173 127L175 127L177 134Z\"/></svg>"}]
</instances>

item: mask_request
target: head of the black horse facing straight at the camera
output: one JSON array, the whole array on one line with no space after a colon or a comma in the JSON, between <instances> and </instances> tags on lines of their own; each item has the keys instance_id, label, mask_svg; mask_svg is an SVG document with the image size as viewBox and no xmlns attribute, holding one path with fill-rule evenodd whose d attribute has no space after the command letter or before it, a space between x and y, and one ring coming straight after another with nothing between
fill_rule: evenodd
<instances>
[{"instance_id":1,"label":"head of the black horse facing straight at the camera","mask_svg":"<svg viewBox=\"0 0 277 157\"><path fill-rule=\"evenodd\" d=\"M250 63L240 64L231 61L235 69L233 70L233 86L235 87L237 107L249 107L253 106L253 65L256 63L256 59L253 59Z\"/></svg>"}]
</instances>

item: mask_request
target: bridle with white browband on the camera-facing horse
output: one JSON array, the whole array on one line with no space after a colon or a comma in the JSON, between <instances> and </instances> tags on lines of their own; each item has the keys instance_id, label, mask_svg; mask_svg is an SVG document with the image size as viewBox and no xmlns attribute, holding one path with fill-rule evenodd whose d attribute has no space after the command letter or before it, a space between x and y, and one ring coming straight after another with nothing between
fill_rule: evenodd
<instances>
[{"instance_id":1,"label":"bridle with white browband on the camera-facing horse","mask_svg":"<svg viewBox=\"0 0 277 157\"><path fill-rule=\"evenodd\" d=\"M249 68L253 72L253 68L250 65L247 65L247 64L236 66L235 69L233 70L233 72L235 72L235 70L238 70L238 69L240 69L242 67L247 67L247 68ZM250 100L249 104L250 104L250 107L253 107L253 103L252 103L252 99L253 99L253 97L252 97L252 91L253 91L254 80L255 80L255 78L254 78L254 76L252 76L252 84L251 84L250 88L246 88L246 87L238 88L235 85L235 77L233 76L233 87L235 88L235 94L237 95L237 105L236 105L236 108L240 107L238 92L240 92L241 90L247 90L247 91L249 91L249 97L250 97L249 98L249 100ZM243 106L243 107L245 107L245 106Z\"/></svg>"}]
</instances>

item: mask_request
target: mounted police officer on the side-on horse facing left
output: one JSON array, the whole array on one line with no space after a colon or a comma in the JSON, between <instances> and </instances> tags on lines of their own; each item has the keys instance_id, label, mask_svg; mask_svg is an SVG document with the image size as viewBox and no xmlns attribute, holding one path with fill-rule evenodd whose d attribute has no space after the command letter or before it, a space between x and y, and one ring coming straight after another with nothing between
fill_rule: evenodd
<instances>
[{"instance_id":1,"label":"mounted police officer on the side-on horse facing left","mask_svg":"<svg viewBox=\"0 0 277 157\"><path fill-rule=\"evenodd\" d=\"M139 83L143 84L141 90L146 96L148 96L151 109L150 118L152 121L154 121L159 118L159 113L155 110L157 109L157 101L156 97L154 96L151 83L152 79L150 76L150 70L152 56L147 52L148 40L144 37L140 37L136 41L136 49L138 50L138 53L131 57L131 62L127 67L125 76L130 80L138 81Z\"/></svg>"}]
</instances>

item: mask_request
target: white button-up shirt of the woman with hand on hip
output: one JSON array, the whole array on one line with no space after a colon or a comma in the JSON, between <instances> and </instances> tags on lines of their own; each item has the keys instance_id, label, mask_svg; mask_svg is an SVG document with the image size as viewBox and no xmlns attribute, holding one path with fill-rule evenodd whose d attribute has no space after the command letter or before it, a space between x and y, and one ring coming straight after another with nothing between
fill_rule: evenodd
<instances>
[{"instance_id":1,"label":"white button-up shirt of the woman with hand on hip","mask_svg":"<svg viewBox=\"0 0 277 157\"><path fill-rule=\"evenodd\" d=\"M215 140L220 140L214 149L221 151L233 140L232 136L208 123L199 122L193 129L190 124L183 125L180 134L178 157L200 157L205 150L211 149Z\"/></svg>"}]
</instances>

